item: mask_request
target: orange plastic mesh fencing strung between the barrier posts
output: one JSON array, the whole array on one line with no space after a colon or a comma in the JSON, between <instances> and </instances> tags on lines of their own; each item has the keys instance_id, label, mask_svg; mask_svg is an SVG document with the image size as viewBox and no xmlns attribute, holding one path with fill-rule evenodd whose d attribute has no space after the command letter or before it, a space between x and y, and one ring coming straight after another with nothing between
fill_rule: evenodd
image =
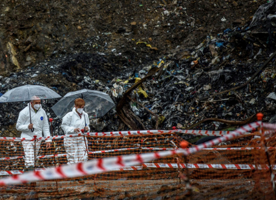
<instances>
[{"instance_id":1,"label":"orange plastic mesh fencing strung between the barrier posts","mask_svg":"<svg viewBox=\"0 0 276 200\"><path fill-rule=\"evenodd\" d=\"M182 141L180 135L171 133L86 138L83 150L87 147L89 160L179 148ZM192 195L195 199L275 197L271 172L276 169L276 148L268 149L267 153L264 148L275 147L275 142L275 136L264 137L255 132L189 156L175 155L132 166L131 170L80 177L85 181L83 184L63 179L1 186L0 190L1 194L20 195L35 190L39 197L81 194L84 197L115 199L129 195L142 198L145 194L151 198L176 194L183 198ZM23 173L26 169L22 142L1 140L0 147L1 177ZM232 149L244 147L251 149ZM41 142L36 156L36 170L65 164L67 157L63 139L52 141L50 149L46 149L45 141ZM229 168L230 165L232 168ZM250 169L243 168L248 165Z\"/></svg>"}]
</instances>

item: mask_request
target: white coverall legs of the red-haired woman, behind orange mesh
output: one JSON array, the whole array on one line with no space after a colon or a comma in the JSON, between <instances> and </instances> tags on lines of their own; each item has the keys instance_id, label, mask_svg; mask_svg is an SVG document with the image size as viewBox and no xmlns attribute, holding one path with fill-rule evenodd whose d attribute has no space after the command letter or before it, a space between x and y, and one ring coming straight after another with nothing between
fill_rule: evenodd
<instances>
[{"instance_id":1,"label":"white coverall legs of the red-haired woman, behind orange mesh","mask_svg":"<svg viewBox=\"0 0 276 200\"><path fill-rule=\"evenodd\" d=\"M87 144L87 139L86 144ZM67 164L80 163L88 160L83 136L64 138L64 148L67 153Z\"/></svg>"}]
</instances>

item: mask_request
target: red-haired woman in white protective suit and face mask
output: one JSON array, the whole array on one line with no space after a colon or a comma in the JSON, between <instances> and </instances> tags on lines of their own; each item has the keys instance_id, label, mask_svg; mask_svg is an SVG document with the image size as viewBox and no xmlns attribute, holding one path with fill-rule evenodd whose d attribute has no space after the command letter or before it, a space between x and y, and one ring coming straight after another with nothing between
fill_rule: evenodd
<instances>
[{"instance_id":1,"label":"red-haired woman in white protective suit and face mask","mask_svg":"<svg viewBox=\"0 0 276 200\"><path fill-rule=\"evenodd\" d=\"M80 133L81 129L84 129L86 132L90 131L88 114L83 111L84 105L83 99L76 99L73 110L62 118L61 128L65 132L65 135ZM64 138L64 147L67 153L67 164L88 160L83 136ZM75 182L75 180L71 182ZM79 179L79 183L84 183L82 178Z\"/></svg>"}]
</instances>

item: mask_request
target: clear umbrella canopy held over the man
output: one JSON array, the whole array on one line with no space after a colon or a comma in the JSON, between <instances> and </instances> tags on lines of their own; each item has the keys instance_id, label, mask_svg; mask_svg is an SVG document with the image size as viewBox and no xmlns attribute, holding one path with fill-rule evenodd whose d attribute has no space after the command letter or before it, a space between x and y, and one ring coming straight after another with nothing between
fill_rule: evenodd
<instances>
[{"instance_id":1,"label":"clear umbrella canopy held over the man","mask_svg":"<svg viewBox=\"0 0 276 200\"><path fill-rule=\"evenodd\" d=\"M0 102L30 101L32 96L43 99L55 99L61 96L50 88L41 85L23 85L13 88L0 97Z\"/></svg>"}]
</instances>

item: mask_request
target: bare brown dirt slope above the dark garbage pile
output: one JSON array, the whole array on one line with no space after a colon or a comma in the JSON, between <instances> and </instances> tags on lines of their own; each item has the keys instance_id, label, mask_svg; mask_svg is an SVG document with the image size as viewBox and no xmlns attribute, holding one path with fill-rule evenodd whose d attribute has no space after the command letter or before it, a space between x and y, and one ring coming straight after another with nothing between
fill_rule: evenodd
<instances>
[{"instance_id":1,"label":"bare brown dirt slope above the dark garbage pile","mask_svg":"<svg viewBox=\"0 0 276 200\"><path fill-rule=\"evenodd\" d=\"M94 66L105 74L96 78L111 80L110 76L121 70L139 70L139 66L164 55L196 46L207 36L251 22L265 2L4 0L0 17L1 74L19 72L44 60L58 62L55 59L62 55L90 53L97 59L97 53L105 53L104 65ZM138 41L152 48L137 45ZM8 55L8 42L16 50L17 66ZM47 83L42 77L40 80Z\"/></svg>"}]
</instances>

